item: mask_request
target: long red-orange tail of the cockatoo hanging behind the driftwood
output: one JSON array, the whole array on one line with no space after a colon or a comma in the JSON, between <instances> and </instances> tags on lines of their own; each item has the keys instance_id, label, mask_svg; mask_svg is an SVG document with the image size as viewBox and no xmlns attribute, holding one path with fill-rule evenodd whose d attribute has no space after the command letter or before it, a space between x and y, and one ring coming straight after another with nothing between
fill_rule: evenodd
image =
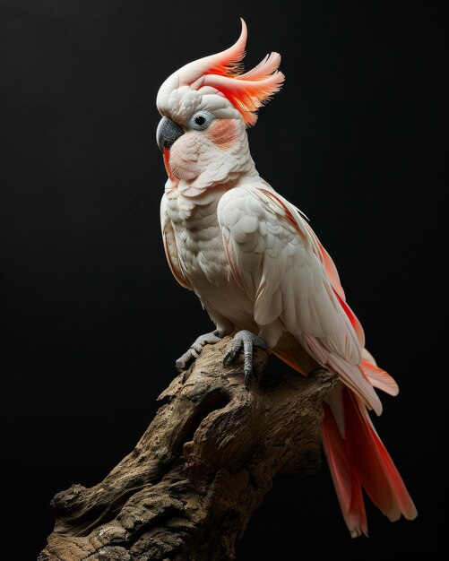
<instances>
[{"instance_id":1,"label":"long red-orange tail of the cockatoo hanging behind the driftwood","mask_svg":"<svg viewBox=\"0 0 449 561\"><path fill-rule=\"evenodd\" d=\"M392 522L417 510L392 458L376 433L367 408L349 388L338 384L324 403L324 452L344 520L353 538L367 535L362 488Z\"/></svg>"}]
</instances>

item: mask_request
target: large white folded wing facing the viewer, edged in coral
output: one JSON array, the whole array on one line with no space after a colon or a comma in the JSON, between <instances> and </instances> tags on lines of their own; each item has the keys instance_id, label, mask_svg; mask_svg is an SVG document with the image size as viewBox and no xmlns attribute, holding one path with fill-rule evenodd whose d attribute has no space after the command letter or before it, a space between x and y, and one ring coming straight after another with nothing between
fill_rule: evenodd
<instances>
[{"instance_id":1,"label":"large white folded wing facing the viewer, edged in coral","mask_svg":"<svg viewBox=\"0 0 449 561\"><path fill-rule=\"evenodd\" d=\"M255 322L284 329L380 414L359 368L364 338L338 273L298 209L268 185L229 190L218 217L230 269L255 302ZM329 269L329 273L326 271Z\"/></svg>"}]
</instances>

